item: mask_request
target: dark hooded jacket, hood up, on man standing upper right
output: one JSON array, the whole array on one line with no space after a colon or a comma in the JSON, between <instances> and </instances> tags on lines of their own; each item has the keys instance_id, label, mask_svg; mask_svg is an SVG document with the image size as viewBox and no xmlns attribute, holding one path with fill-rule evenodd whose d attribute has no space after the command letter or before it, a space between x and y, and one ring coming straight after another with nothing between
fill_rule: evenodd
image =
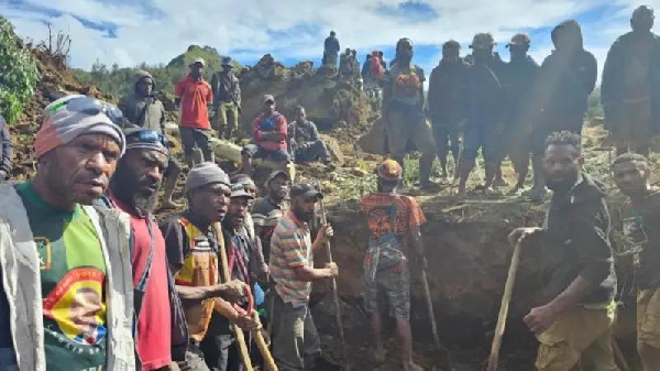
<instances>
[{"instance_id":1,"label":"dark hooded jacket, hood up, on man standing upper right","mask_svg":"<svg viewBox=\"0 0 660 371\"><path fill-rule=\"evenodd\" d=\"M573 41L572 50L558 47L560 33ZM596 58L584 50L582 30L575 21L566 21L554 28L552 42L557 50L539 69L537 97L540 97L541 110L550 121L553 118L583 116L588 95L596 86Z\"/></svg>"}]
</instances>

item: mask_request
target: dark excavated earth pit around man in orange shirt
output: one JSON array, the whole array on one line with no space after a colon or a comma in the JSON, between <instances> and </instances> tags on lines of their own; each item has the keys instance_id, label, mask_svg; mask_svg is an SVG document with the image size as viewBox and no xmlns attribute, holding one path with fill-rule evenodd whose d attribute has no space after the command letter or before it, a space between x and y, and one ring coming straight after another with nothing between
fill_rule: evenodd
<instances>
[{"instance_id":1,"label":"dark excavated earth pit around man in orange shirt","mask_svg":"<svg viewBox=\"0 0 660 371\"><path fill-rule=\"evenodd\" d=\"M422 234L429 262L429 287L440 340L449 349L435 349L420 268L411 262L411 326L416 359L425 369L480 370L490 352L493 330L510 262L508 232L519 226L539 225L542 206L517 201L471 200L461 204L451 197L421 198L428 219ZM399 370L398 342L394 320L386 336L388 362L382 367L371 359L369 316L362 304L362 259L366 249L366 223L356 200L331 205L330 222L337 231L332 253L340 266L338 277L342 319L351 364L356 370ZM324 258L317 259L319 264ZM531 253L522 258L509 309L502 349L502 370L534 369L536 341L521 318L536 302L538 274ZM334 303L328 284L315 287L316 323L321 329L326 350L341 359ZM385 313L387 315L387 313Z\"/></svg>"}]
</instances>

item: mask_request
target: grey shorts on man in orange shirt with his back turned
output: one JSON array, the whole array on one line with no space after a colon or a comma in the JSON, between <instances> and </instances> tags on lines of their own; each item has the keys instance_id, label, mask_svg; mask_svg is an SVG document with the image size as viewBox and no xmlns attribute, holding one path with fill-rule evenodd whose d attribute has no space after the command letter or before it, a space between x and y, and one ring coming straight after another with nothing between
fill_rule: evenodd
<instances>
[{"instance_id":1,"label":"grey shorts on man in orange shirt with his back turned","mask_svg":"<svg viewBox=\"0 0 660 371\"><path fill-rule=\"evenodd\" d=\"M408 268L400 272L384 269L376 272L375 280L364 274L364 306L369 313L380 310L380 295L385 294L389 303L389 315L396 319L410 319L410 277Z\"/></svg>"}]
</instances>

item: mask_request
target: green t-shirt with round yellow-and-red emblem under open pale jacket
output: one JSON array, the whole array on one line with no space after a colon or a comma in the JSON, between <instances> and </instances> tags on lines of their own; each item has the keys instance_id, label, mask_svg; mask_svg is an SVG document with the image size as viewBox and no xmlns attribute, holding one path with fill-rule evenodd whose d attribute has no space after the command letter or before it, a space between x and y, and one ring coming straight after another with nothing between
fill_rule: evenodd
<instances>
[{"instance_id":1,"label":"green t-shirt with round yellow-and-red emblem under open pale jacket","mask_svg":"<svg viewBox=\"0 0 660 371\"><path fill-rule=\"evenodd\" d=\"M103 370L106 263L89 216L46 204L32 184L15 186L41 260L48 370Z\"/></svg>"}]
</instances>

